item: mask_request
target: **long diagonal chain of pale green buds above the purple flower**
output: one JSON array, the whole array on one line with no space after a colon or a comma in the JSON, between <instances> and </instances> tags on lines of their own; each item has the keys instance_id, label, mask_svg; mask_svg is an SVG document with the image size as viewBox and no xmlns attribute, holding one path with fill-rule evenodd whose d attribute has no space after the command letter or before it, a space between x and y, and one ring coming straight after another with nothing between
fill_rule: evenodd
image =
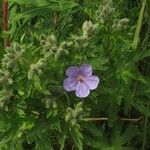
<instances>
[{"instance_id":1,"label":"long diagonal chain of pale green buds above the purple flower","mask_svg":"<svg viewBox=\"0 0 150 150\"><path fill-rule=\"evenodd\" d=\"M50 35L44 40L41 40L41 46L43 48L43 54L45 57L54 56L57 60L59 57L68 55L70 49L80 49L86 47L91 35L98 29L98 24L93 24L92 21L85 21L82 25L82 35L72 35L68 41L63 41L58 44L55 35Z\"/></svg>"}]
</instances>

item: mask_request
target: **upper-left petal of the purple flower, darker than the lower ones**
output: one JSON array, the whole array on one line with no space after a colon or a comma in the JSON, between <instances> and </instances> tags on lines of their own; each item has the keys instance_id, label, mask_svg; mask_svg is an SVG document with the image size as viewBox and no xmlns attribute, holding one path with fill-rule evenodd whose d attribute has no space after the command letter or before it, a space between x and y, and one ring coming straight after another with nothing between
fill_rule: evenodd
<instances>
[{"instance_id":1,"label":"upper-left petal of the purple flower, darker than the lower ones","mask_svg":"<svg viewBox=\"0 0 150 150\"><path fill-rule=\"evenodd\" d=\"M76 77L79 74L79 67L71 66L67 69L66 75L68 77Z\"/></svg>"}]
</instances>

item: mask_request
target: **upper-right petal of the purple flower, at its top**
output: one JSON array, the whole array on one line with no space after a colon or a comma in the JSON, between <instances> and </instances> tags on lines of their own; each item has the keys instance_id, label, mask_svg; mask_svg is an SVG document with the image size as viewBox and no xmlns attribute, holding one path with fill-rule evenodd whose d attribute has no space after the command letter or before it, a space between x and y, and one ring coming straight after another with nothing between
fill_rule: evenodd
<instances>
[{"instance_id":1,"label":"upper-right petal of the purple flower, at its top","mask_svg":"<svg viewBox=\"0 0 150 150\"><path fill-rule=\"evenodd\" d=\"M80 66L80 73L84 76L92 75L92 67L88 64L83 64Z\"/></svg>"}]
</instances>

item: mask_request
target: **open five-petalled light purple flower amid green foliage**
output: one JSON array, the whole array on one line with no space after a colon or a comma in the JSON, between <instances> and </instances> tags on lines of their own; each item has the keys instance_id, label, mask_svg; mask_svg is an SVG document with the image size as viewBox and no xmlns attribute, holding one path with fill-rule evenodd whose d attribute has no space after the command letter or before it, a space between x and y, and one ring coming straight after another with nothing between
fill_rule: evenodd
<instances>
[{"instance_id":1,"label":"open five-petalled light purple flower amid green foliage","mask_svg":"<svg viewBox=\"0 0 150 150\"><path fill-rule=\"evenodd\" d=\"M77 97L87 97L90 90L97 88L99 78L92 75L92 67L88 64L83 64L80 67L71 66L67 69L64 80L64 89L66 91L74 91Z\"/></svg>"}]
</instances>

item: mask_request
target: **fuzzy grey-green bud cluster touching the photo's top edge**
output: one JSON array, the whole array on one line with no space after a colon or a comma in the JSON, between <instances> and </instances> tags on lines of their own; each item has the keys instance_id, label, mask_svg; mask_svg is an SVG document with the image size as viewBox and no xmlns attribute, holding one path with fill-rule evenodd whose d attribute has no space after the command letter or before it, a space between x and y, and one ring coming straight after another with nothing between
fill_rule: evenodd
<instances>
[{"instance_id":1,"label":"fuzzy grey-green bud cluster touching the photo's top edge","mask_svg":"<svg viewBox=\"0 0 150 150\"><path fill-rule=\"evenodd\" d=\"M104 24L114 10L112 0L103 0L102 5L100 5L99 9L96 11L96 19L101 24Z\"/></svg>"}]
</instances>

